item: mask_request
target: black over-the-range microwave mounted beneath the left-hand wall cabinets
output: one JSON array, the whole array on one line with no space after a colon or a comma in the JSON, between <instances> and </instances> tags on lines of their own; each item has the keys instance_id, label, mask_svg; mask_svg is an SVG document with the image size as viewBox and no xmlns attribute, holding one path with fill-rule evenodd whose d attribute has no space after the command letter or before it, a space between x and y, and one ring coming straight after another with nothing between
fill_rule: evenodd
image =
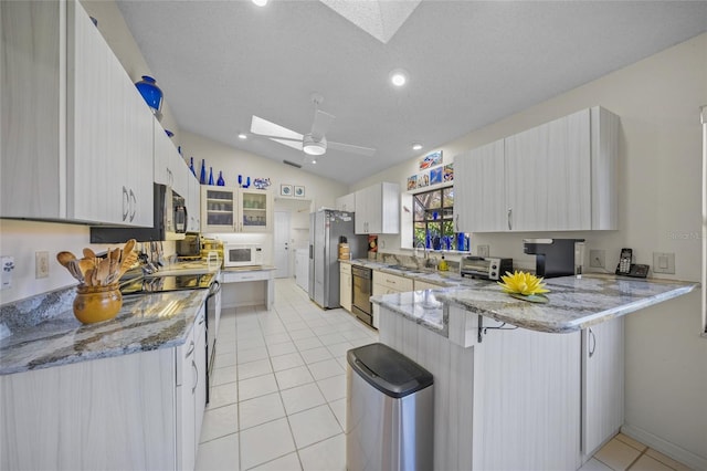
<instances>
[{"instance_id":1,"label":"black over-the-range microwave mounted beneath the left-hand wall cabinets","mask_svg":"<svg viewBox=\"0 0 707 471\"><path fill-rule=\"evenodd\" d=\"M155 184L152 188L151 228L91 228L91 243L124 243L181 240L184 238L187 208L184 199L170 187Z\"/></svg>"}]
</instances>

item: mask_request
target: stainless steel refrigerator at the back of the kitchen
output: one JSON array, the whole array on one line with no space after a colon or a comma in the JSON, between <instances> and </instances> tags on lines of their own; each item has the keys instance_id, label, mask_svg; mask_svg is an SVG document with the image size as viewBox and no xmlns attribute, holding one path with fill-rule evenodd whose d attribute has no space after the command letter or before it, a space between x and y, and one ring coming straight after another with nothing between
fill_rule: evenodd
<instances>
[{"instance_id":1,"label":"stainless steel refrigerator at the back of the kitchen","mask_svg":"<svg viewBox=\"0 0 707 471\"><path fill-rule=\"evenodd\" d=\"M354 213L321 209L309 214L309 299L324 308L339 307L339 242L351 259L368 257L368 236L354 233Z\"/></svg>"}]
</instances>

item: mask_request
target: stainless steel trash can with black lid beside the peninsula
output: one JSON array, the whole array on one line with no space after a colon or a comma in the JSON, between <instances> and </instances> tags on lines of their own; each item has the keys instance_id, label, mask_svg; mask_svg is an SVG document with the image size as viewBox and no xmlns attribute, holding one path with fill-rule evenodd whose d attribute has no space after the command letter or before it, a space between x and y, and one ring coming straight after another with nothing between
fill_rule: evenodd
<instances>
[{"instance_id":1,"label":"stainless steel trash can with black lid beside the peninsula","mask_svg":"<svg viewBox=\"0 0 707 471\"><path fill-rule=\"evenodd\" d=\"M432 470L433 378L383 344L347 353L348 471Z\"/></svg>"}]
</instances>

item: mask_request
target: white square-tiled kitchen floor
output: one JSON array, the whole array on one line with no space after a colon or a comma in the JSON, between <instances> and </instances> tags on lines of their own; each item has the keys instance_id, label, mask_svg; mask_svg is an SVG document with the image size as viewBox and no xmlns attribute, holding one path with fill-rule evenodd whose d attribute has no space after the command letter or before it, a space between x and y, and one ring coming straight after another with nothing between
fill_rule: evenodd
<instances>
[{"instance_id":1,"label":"white square-tiled kitchen floor","mask_svg":"<svg viewBox=\"0 0 707 471\"><path fill-rule=\"evenodd\" d=\"M270 312L224 310L197 470L346 469L346 352L377 341L293 279L275 281ZM581 471L687 469L620 433Z\"/></svg>"}]
</instances>

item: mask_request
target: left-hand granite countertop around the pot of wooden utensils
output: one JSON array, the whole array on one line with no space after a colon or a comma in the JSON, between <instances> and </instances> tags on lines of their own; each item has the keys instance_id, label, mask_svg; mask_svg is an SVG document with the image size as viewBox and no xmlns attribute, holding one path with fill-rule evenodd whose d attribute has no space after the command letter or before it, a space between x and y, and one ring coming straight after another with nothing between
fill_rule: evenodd
<instances>
[{"instance_id":1,"label":"left-hand granite countertop around the pot of wooden utensils","mask_svg":"<svg viewBox=\"0 0 707 471\"><path fill-rule=\"evenodd\" d=\"M62 296L73 299L72 291ZM182 345L208 295L189 290L124 296L118 315L96 324L78 322L71 305L34 325L15 323L0 339L0 375Z\"/></svg>"}]
</instances>

